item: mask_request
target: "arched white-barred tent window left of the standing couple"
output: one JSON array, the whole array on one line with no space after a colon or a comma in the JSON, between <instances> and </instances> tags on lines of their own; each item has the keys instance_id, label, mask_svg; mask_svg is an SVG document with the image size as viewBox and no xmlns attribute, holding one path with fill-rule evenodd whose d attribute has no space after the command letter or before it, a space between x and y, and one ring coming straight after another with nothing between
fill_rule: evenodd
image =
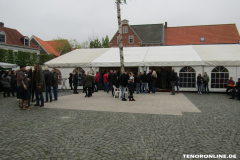
<instances>
[{"instance_id":1,"label":"arched white-barred tent window left of the standing couple","mask_svg":"<svg viewBox=\"0 0 240 160\"><path fill-rule=\"evenodd\" d=\"M179 87L196 88L196 71L192 67L183 67L179 72Z\"/></svg>"}]
</instances>

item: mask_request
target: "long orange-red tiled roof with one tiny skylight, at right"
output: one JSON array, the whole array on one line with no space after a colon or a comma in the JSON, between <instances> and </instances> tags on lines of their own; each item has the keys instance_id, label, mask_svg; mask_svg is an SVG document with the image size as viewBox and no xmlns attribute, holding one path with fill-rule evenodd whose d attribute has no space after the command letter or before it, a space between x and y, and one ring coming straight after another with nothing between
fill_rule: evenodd
<instances>
[{"instance_id":1,"label":"long orange-red tiled roof with one tiny skylight, at right","mask_svg":"<svg viewBox=\"0 0 240 160\"><path fill-rule=\"evenodd\" d=\"M205 37L201 42L200 37ZM165 45L239 43L235 24L184 26L165 28Z\"/></svg>"}]
</instances>

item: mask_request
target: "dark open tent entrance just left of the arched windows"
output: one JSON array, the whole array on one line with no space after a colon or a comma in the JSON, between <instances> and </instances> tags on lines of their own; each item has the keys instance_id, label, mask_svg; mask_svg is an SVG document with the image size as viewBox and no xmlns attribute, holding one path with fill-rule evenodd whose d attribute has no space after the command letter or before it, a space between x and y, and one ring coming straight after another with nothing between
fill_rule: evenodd
<instances>
[{"instance_id":1,"label":"dark open tent entrance just left of the arched windows","mask_svg":"<svg viewBox=\"0 0 240 160\"><path fill-rule=\"evenodd\" d=\"M157 73L157 83L156 88L158 91L165 91L171 88L169 82L169 74L171 73L172 67L149 67L152 71L156 71Z\"/></svg>"}]
</instances>

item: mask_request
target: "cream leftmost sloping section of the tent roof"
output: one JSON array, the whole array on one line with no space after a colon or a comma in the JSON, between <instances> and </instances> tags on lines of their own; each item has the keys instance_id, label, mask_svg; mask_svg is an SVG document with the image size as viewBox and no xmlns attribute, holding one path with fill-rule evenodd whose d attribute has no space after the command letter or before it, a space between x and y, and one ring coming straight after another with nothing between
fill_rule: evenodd
<instances>
[{"instance_id":1,"label":"cream leftmost sloping section of the tent roof","mask_svg":"<svg viewBox=\"0 0 240 160\"><path fill-rule=\"evenodd\" d=\"M108 51L109 48L98 49L76 49L60 57L54 58L45 63L48 67L90 67L91 62L103 53Z\"/></svg>"}]
</instances>

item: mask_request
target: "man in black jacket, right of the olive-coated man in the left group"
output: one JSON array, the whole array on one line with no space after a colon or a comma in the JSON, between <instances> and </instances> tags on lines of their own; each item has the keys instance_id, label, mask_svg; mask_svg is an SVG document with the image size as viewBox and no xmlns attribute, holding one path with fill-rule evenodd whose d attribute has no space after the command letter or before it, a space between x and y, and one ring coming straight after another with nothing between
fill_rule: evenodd
<instances>
[{"instance_id":1,"label":"man in black jacket, right of the olive-coated man in the left group","mask_svg":"<svg viewBox=\"0 0 240 160\"><path fill-rule=\"evenodd\" d=\"M49 71L48 67L44 68L44 77L46 84L46 103L48 103L48 94L50 95L50 102L52 102L52 82L53 82L53 73Z\"/></svg>"}]
</instances>

